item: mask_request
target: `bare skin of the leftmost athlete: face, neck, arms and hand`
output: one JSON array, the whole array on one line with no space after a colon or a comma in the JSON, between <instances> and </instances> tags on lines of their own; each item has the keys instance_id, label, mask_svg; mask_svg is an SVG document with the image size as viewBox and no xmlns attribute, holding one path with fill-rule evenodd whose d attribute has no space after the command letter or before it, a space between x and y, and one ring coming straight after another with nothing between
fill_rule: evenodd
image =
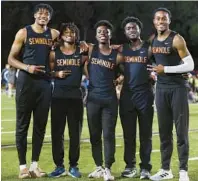
<instances>
[{"instance_id":1,"label":"bare skin of the leftmost athlete: face, neck, arms and hand","mask_svg":"<svg viewBox=\"0 0 198 181\"><path fill-rule=\"evenodd\" d=\"M36 33L43 33L47 30L47 24L49 23L51 19L51 15L47 9L39 9L38 12L34 14L35 22L32 24L32 29ZM55 40L59 36L59 32L55 29L51 29L52 34L52 40ZM26 70L27 64L24 64L22 61L18 59L18 56L20 54L20 51L22 49L22 46L25 44L25 41L27 39L27 30L26 28L20 29L16 36L15 40L12 44L12 48L10 50L9 56L8 56L8 63L21 70ZM45 72L44 71L45 66L43 65L30 65L28 67L28 72L30 74L36 74L39 72Z\"/></svg>"}]
</instances>

